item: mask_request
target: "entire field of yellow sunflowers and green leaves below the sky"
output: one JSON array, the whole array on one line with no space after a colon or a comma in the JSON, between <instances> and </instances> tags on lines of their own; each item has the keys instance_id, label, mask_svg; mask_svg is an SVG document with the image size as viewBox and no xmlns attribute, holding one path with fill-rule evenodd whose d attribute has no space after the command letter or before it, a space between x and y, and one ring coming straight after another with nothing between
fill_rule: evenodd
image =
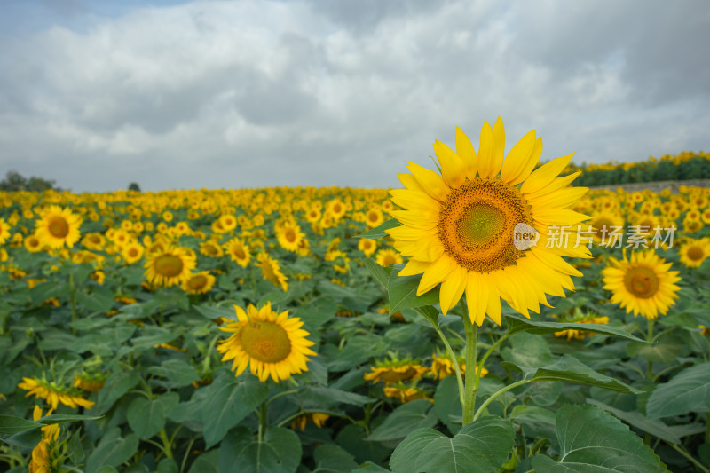
<instances>
[{"instance_id":1,"label":"entire field of yellow sunflowers and green leaves below the sky","mask_svg":"<svg viewBox=\"0 0 710 473\"><path fill-rule=\"evenodd\" d=\"M0 193L0 469L708 472L710 190Z\"/></svg>"}]
</instances>

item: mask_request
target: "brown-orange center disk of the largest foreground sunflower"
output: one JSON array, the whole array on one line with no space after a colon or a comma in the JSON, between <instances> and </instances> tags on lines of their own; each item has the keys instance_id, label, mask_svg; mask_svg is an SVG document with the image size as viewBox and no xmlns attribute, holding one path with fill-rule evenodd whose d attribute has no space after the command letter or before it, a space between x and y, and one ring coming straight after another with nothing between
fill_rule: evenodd
<instances>
[{"instance_id":1,"label":"brown-orange center disk of the largest foreground sunflower","mask_svg":"<svg viewBox=\"0 0 710 473\"><path fill-rule=\"evenodd\" d=\"M462 267L492 272L525 254L514 244L519 223L533 225L533 217L517 187L476 177L453 189L441 204L438 238Z\"/></svg>"}]
</instances>

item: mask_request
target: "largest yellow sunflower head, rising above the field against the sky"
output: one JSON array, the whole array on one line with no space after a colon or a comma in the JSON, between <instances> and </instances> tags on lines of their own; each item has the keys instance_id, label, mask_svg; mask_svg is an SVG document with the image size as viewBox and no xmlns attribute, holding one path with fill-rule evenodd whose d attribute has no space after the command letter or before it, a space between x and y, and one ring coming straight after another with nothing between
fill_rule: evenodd
<instances>
[{"instance_id":1,"label":"largest yellow sunflower head, rising above the field against the sky","mask_svg":"<svg viewBox=\"0 0 710 473\"><path fill-rule=\"evenodd\" d=\"M568 209L587 192L568 187L579 173L557 177L572 155L535 169L542 140L534 130L505 161L504 147L500 118L493 127L484 123L478 154L457 128L455 152L434 143L441 174L409 163L412 174L399 175L406 188L390 191L403 208L390 215L402 225L387 233L409 257L399 275L423 273L418 295L441 283L444 314L465 292L469 317L478 326L486 314L501 324L501 298L529 317L528 310L548 304L546 294L564 296L564 288L574 288L570 275L581 273L562 256L590 256L586 246L574 245L573 236L569 244L548 239L552 227L570 225L567 230L576 232L576 225L588 218ZM536 245L519 249L517 237L537 240Z\"/></svg>"}]
</instances>

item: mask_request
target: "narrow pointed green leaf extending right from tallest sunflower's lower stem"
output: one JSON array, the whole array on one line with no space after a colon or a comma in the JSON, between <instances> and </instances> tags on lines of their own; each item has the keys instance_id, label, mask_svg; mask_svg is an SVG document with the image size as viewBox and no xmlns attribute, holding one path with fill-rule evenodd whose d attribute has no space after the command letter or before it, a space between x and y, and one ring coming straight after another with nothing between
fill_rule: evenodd
<instances>
[{"instance_id":1,"label":"narrow pointed green leaf extending right from tallest sunflower's lower stem","mask_svg":"<svg viewBox=\"0 0 710 473\"><path fill-rule=\"evenodd\" d=\"M574 384L587 384L588 386L599 386L600 388L616 390L627 394L638 394L641 392L624 382L597 373L592 368L580 362L579 359L572 357L572 355L563 355L556 363L541 368L520 367L510 361L503 361L501 365L509 368L517 368L523 372L524 379L530 381L563 381L572 382Z\"/></svg>"}]
</instances>

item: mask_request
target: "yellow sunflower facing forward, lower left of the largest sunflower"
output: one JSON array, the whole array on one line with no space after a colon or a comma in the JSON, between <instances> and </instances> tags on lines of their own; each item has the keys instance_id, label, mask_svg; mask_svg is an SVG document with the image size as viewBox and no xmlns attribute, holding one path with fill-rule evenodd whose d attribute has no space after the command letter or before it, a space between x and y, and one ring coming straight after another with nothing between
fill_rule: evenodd
<instances>
[{"instance_id":1,"label":"yellow sunflower facing forward, lower left of the largest sunflower","mask_svg":"<svg viewBox=\"0 0 710 473\"><path fill-rule=\"evenodd\" d=\"M249 304L247 311L234 306L237 320L219 327L232 335L217 344L222 361L232 359L232 370L239 376L249 367L251 374L265 382L269 376L275 382L288 380L292 374L308 371L306 362L315 356L310 346L311 335L301 329L304 322L288 317L288 311L272 311L272 304L261 309Z\"/></svg>"}]
</instances>

